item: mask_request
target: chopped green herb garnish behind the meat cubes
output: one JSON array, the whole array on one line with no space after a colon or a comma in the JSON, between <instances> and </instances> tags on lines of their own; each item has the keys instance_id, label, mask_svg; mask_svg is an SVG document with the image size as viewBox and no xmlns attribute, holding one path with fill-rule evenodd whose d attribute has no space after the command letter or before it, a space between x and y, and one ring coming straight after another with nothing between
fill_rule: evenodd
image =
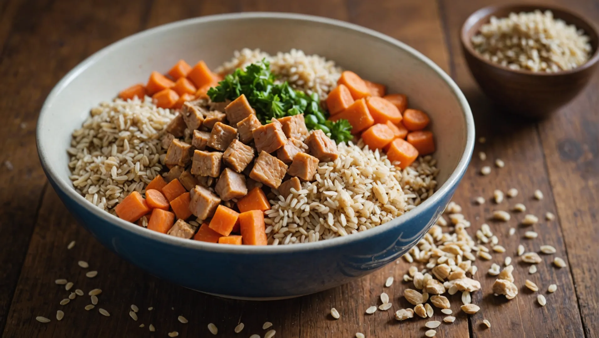
<instances>
[{"instance_id":1,"label":"chopped green herb garnish behind the meat cubes","mask_svg":"<svg viewBox=\"0 0 599 338\"><path fill-rule=\"evenodd\" d=\"M329 121L328 114L320 107L316 93L307 95L295 90L287 82L274 83L275 76L270 71L270 63L266 60L252 63L244 69L235 69L233 74L226 75L219 85L208 90L208 96L214 102L233 101L242 94L262 123L272 118L304 114L308 129L320 129L337 143L353 138L352 126L347 120Z\"/></svg>"}]
</instances>

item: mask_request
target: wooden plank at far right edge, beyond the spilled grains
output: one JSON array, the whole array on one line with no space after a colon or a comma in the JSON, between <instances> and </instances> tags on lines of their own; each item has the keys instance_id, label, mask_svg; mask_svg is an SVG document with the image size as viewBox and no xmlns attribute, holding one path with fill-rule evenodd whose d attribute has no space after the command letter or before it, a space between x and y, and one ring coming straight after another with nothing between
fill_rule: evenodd
<instances>
[{"instance_id":1,"label":"wooden plank at far right edge, beyond the spilled grains","mask_svg":"<svg viewBox=\"0 0 599 338\"><path fill-rule=\"evenodd\" d=\"M591 22L599 22L592 1L562 2ZM553 188L557 215L567 248L570 270L585 337L599 337L599 74L561 111L539 124L541 144Z\"/></svg>"}]
</instances>

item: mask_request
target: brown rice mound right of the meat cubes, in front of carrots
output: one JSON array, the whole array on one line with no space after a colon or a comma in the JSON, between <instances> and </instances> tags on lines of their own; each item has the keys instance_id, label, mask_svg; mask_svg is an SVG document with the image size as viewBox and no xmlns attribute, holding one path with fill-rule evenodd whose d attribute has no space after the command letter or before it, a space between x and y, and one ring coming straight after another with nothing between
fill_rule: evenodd
<instances>
[{"instance_id":1,"label":"brown rice mound right of the meat cubes, in front of carrots","mask_svg":"<svg viewBox=\"0 0 599 338\"><path fill-rule=\"evenodd\" d=\"M335 162L319 163L315 181L278 195L267 211L268 243L294 244L346 236L403 215L434 193L438 169L430 156L397 169L385 154L357 145L338 145Z\"/></svg>"}]
</instances>

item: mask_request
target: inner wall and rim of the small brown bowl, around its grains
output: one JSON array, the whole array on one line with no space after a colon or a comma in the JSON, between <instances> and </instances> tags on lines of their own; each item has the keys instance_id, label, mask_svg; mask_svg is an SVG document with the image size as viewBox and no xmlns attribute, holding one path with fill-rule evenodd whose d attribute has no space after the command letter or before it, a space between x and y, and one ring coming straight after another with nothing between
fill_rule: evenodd
<instances>
[{"instance_id":1,"label":"inner wall and rim of the small brown bowl, around its grains","mask_svg":"<svg viewBox=\"0 0 599 338\"><path fill-rule=\"evenodd\" d=\"M546 11L550 10L553 13L553 17L556 19L564 20L568 25L574 25L577 29L582 29L585 31L585 34L589 36L589 43L591 44L591 56L589 60L582 66L572 69L571 71L562 71L557 73L544 73L544 72L533 72L521 69L509 69L496 63L492 63L489 60L484 59L482 56L477 53L472 47L471 38L476 35L480 31L480 27L489 23L492 16L502 18L509 16L510 13L520 13L520 12L531 12L535 10ZM599 36L597 32L597 27L589 23L587 20L583 19L583 17L579 16L576 13L573 13L566 8L549 6L549 5L541 5L541 4L519 4L519 5L497 5L497 6L488 6L481 8L480 10L474 12L468 17L468 19L464 22L464 26L462 26L461 31L461 40L464 47L468 50L470 54L477 57L477 59L482 60L489 65L492 65L497 68L507 69L510 72L522 73L522 74L535 74L541 76L551 76L555 74L565 74L568 72L577 72L582 69L588 68L593 63L597 62L599 59Z\"/></svg>"}]
</instances>

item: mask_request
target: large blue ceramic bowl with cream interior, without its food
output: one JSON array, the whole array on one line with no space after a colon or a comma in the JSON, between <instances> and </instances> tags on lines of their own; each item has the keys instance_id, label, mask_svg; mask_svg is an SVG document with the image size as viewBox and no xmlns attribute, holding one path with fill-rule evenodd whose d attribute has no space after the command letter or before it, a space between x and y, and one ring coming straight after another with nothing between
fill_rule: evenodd
<instances>
[{"instance_id":1,"label":"large blue ceramic bowl with cream interior, without its food","mask_svg":"<svg viewBox=\"0 0 599 338\"><path fill-rule=\"evenodd\" d=\"M180 239L120 220L87 202L69 181L71 132L89 109L120 89L168 71L179 59L216 68L241 48L304 50L335 60L406 93L431 116L437 138L437 192L407 214L365 232L301 245L219 245ZM405 81L410 79L410 81ZM159 26L115 42L69 72L41 110L38 152L66 208L102 245L148 273L204 293L283 299L316 293L380 269L406 253L434 224L464 174L474 123L464 95L431 60L396 39L322 17L284 13L205 16Z\"/></svg>"}]
</instances>

